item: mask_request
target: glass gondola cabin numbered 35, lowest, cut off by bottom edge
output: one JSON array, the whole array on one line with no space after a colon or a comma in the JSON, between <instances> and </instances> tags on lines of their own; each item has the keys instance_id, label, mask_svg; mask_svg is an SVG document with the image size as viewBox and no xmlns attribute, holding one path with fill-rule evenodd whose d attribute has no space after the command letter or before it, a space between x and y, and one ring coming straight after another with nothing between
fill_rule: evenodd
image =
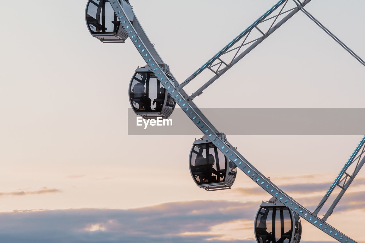
<instances>
[{"instance_id":1,"label":"glass gondola cabin numbered 35, lowest, cut off by bottom edge","mask_svg":"<svg viewBox=\"0 0 365 243\"><path fill-rule=\"evenodd\" d=\"M258 243L299 243L300 217L283 203L272 198L262 201L255 219L255 237Z\"/></svg>"}]
</instances>

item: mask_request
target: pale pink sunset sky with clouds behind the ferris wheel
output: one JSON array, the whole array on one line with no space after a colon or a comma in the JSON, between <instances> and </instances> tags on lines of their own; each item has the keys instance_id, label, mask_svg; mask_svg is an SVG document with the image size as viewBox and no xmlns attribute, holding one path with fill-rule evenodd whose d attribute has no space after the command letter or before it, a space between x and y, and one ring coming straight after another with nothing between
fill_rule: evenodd
<instances>
[{"instance_id":1,"label":"pale pink sunset sky with clouds behind the ferris wheel","mask_svg":"<svg viewBox=\"0 0 365 243\"><path fill-rule=\"evenodd\" d=\"M276 2L130 0L180 83ZM86 4L0 1L0 242L255 242L254 216L270 195L241 171L230 190L198 188L188 156L199 132L128 136L128 85L145 63L129 39L93 38ZM365 58L365 1L312 0L306 9ZM365 108L364 77L365 67L299 12L194 102ZM192 82L184 89L191 94L199 87ZM226 126L240 122L226 119ZM227 137L311 211L361 138ZM364 199L363 170L327 220L363 243ZM302 224L302 242L336 242Z\"/></svg>"}]
</instances>

